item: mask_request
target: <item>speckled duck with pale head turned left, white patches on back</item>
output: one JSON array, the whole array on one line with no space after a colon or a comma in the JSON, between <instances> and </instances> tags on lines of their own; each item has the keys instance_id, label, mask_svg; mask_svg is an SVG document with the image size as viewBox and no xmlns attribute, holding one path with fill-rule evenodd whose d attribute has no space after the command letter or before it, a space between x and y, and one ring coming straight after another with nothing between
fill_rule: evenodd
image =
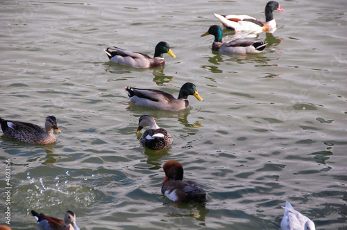
<instances>
[{"instance_id":1,"label":"speckled duck with pale head turned left, white patches on back","mask_svg":"<svg viewBox=\"0 0 347 230\"><path fill-rule=\"evenodd\" d=\"M139 133L147 125L149 125L149 130L144 131L139 143L151 150L169 148L172 143L172 136L167 133L167 130L159 127L152 116L142 115L139 118L139 127L137 127L136 133Z\"/></svg>"}]
</instances>

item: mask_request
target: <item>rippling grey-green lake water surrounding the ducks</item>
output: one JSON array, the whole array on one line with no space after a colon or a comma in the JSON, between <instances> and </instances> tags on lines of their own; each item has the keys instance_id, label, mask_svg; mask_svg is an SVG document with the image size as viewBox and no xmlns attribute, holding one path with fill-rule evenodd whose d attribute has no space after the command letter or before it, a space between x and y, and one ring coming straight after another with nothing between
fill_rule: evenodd
<instances>
[{"instance_id":1,"label":"rippling grey-green lake water surrounding the ducks","mask_svg":"<svg viewBox=\"0 0 347 230\"><path fill-rule=\"evenodd\" d=\"M347 229L347 1L280 1L278 29L257 36L269 46L256 55L219 55L200 37L221 25L213 12L264 19L265 4L3 1L0 116L43 126L53 115L62 131L43 146L1 135L12 229L35 229L31 209L74 211L81 229L280 229L285 200L316 229ZM160 41L177 57L156 69L120 67L103 52L153 55ZM178 96L185 82L205 101L190 96L183 112L136 107L124 91ZM139 145L143 114L174 137L171 148ZM205 206L162 196L168 159L207 191ZM4 163L0 178L5 188Z\"/></svg>"}]
</instances>

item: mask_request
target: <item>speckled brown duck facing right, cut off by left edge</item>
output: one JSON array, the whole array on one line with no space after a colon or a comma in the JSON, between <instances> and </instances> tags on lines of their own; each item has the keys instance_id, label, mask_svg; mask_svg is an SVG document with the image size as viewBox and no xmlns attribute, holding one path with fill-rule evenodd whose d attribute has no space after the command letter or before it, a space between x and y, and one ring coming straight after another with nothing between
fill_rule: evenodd
<instances>
[{"instance_id":1,"label":"speckled brown duck facing right, cut off by left edge","mask_svg":"<svg viewBox=\"0 0 347 230\"><path fill-rule=\"evenodd\" d=\"M33 144L47 144L57 141L53 130L57 133L61 131L58 128L56 117L47 116L45 127L46 130L38 125L32 123L25 123L21 121L9 121L0 118L1 130L9 139L23 141L25 143Z\"/></svg>"}]
</instances>

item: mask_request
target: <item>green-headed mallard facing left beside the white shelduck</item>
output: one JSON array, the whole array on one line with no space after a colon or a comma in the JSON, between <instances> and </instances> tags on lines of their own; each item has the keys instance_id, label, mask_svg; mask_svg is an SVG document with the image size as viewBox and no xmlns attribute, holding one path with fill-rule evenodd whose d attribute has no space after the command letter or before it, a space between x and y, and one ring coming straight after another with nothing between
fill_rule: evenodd
<instances>
[{"instance_id":1,"label":"green-headed mallard facing left beside the white shelduck","mask_svg":"<svg viewBox=\"0 0 347 230\"><path fill-rule=\"evenodd\" d=\"M267 46L266 42L258 42L254 40L237 39L231 42L223 42L223 30L217 26L210 26L208 32L201 35L214 35L214 42L212 43L212 50L219 51L219 53L260 53Z\"/></svg>"}]
</instances>

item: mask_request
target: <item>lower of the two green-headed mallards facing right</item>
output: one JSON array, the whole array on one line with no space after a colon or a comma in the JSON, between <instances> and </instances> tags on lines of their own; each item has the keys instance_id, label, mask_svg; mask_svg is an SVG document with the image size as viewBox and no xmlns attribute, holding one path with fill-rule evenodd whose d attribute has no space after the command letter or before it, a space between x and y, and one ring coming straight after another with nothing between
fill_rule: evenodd
<instances>
[{"instance_id":1,"label":"lower of the two green-headed mallards facing right","mask_svg":"<svg viewBox=\"0 0 347 230\"><path fill-rule=\"evenodd\" d=\"M196 85L192 82L187 82L180 88L178 98L174 98L171 94L158 89L126 87L125 90L132 103L149 109L166 110L171 112L187 109L189 107L189 95L203 101L203 98L198 95Z\"/></svg>"}]
</instances>

